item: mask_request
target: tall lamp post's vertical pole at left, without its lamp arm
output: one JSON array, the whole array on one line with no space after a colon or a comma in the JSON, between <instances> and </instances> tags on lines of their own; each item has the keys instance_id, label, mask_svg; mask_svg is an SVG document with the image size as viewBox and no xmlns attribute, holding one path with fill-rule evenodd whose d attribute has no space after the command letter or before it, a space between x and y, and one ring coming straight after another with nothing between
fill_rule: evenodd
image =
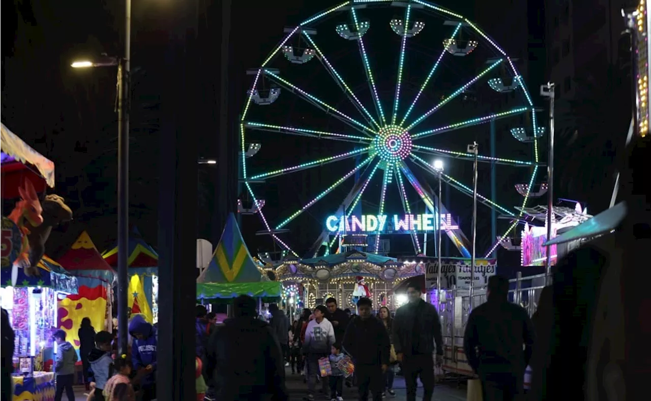
<instances>
[{"instance_id":1,"label":"tall lamp post's vertical pole at left, without its lamp arm","mask_svg":"<svg viewBox=\"0 0 651 401\"><path fill-rule=\"evenodd\" d=\"M128 350L128 238L129 238L129 58L131 57L131 0L125 1L124 57L118 63L118 345Z\"/></svg>"}]
</instances>

